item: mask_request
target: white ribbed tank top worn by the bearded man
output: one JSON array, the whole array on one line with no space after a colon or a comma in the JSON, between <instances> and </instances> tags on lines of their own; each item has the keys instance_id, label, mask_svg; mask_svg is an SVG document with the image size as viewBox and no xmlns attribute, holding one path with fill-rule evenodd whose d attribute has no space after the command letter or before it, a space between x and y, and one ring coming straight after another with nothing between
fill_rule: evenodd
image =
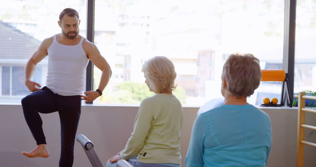
<instances>
[{"instance_id":1,"label":"white ribbed tank top worn by the bearded man","mask_svg":"<svg viewBox=\"0 0 316 167\"><path fill-rule=\"evenodd\" d=\"M57 42L56 34L49 46L46 86L63 96L82 95L84 75L89 59L82 48L84 38L74 46Z\"/></svg>"}]
</instances>

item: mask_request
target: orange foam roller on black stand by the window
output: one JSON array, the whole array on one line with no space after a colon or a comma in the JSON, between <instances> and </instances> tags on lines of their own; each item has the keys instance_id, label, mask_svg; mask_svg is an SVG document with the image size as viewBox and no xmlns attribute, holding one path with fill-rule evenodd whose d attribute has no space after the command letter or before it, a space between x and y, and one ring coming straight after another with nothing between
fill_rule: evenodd
<instances>
[{"instance_id":1,"label":"orange foam roller on black stand by the window","mask_svg":"<svg viewBox=\"0 0 316 167\"><path fill-rule=\"evenodd\" d=\"M279 69L264 69L261 70L261 81L280 81L285 80L285 71Z\"/></svg>"}]
</instances>

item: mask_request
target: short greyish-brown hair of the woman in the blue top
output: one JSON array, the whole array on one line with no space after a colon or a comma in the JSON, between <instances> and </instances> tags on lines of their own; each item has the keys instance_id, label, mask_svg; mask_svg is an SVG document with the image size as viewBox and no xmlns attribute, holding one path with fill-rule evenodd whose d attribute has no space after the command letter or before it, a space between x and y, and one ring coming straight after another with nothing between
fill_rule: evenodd
<instances>
[{"instance_id":1,"label":"short greyish-brown hair of the woman in the blue top","mask_svg":"<svg viewBox=\"0 0 316 167\"><path fill-rule=\"evenodd\" d=\"M223 66L222 79L225 77L229 95L249 97L259 87L261 69L259 59L250 53L229 55Z\"/></svg>"}]
</instances>

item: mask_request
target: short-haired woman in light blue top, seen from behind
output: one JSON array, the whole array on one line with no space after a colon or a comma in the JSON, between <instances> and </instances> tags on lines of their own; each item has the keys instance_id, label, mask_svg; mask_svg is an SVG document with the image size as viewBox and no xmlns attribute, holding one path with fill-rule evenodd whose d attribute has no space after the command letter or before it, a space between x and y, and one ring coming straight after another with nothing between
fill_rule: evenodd
<instances>
[{"instance_id":1,"label":"short-haired woman in light blue top, seen from behind","mask_svg":"<svg viewBox=\"0 0 316 167\"><path fill-rule=\"evenodd\" d=\"M247 103L261 80L259 60L231 54L223 66L224 104L200 114L193 125L186 167L265 167L272 143L268 114Z\"/></svg>"}]
</instances>

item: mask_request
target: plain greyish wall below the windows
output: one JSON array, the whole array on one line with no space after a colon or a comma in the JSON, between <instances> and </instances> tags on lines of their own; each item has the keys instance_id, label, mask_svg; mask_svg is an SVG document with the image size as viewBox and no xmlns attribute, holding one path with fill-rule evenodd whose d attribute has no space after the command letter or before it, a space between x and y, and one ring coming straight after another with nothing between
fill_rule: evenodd
<instances>
[{"instance_id":1,"label":"plain greyish wall below the windows","mask_svg":"<svg viewBox=\"0 0 316 167\"><path fill-rule=\"evenodd\" d=\"M138 107L82 106L77 133L87 136L95 146L99 158L106 164L107 159L125 147L133 130ZM185 107L185 121L181 131L182 166L190 140L191 129L197 113L196 107ZM291 167L296 163L296 108L264 108L270 115L273 133L272 149L268 167ZM31 151L36 143L24 120L21 105L0 105L0 166L1 167L56 167L60 155L60 123L58 113L41 114L48 158L26 158L21 152ZM307 123L316 124L316 114L306 114ZM306 132L309 133L310 131ZM316 142L316 137L308 140ZM307 154L308 153L308 154ZM305 167L316 164L316 148L305 146ZM75 143L74 167L91 166L81 145Z\"/></svg>"}]
</instances>

